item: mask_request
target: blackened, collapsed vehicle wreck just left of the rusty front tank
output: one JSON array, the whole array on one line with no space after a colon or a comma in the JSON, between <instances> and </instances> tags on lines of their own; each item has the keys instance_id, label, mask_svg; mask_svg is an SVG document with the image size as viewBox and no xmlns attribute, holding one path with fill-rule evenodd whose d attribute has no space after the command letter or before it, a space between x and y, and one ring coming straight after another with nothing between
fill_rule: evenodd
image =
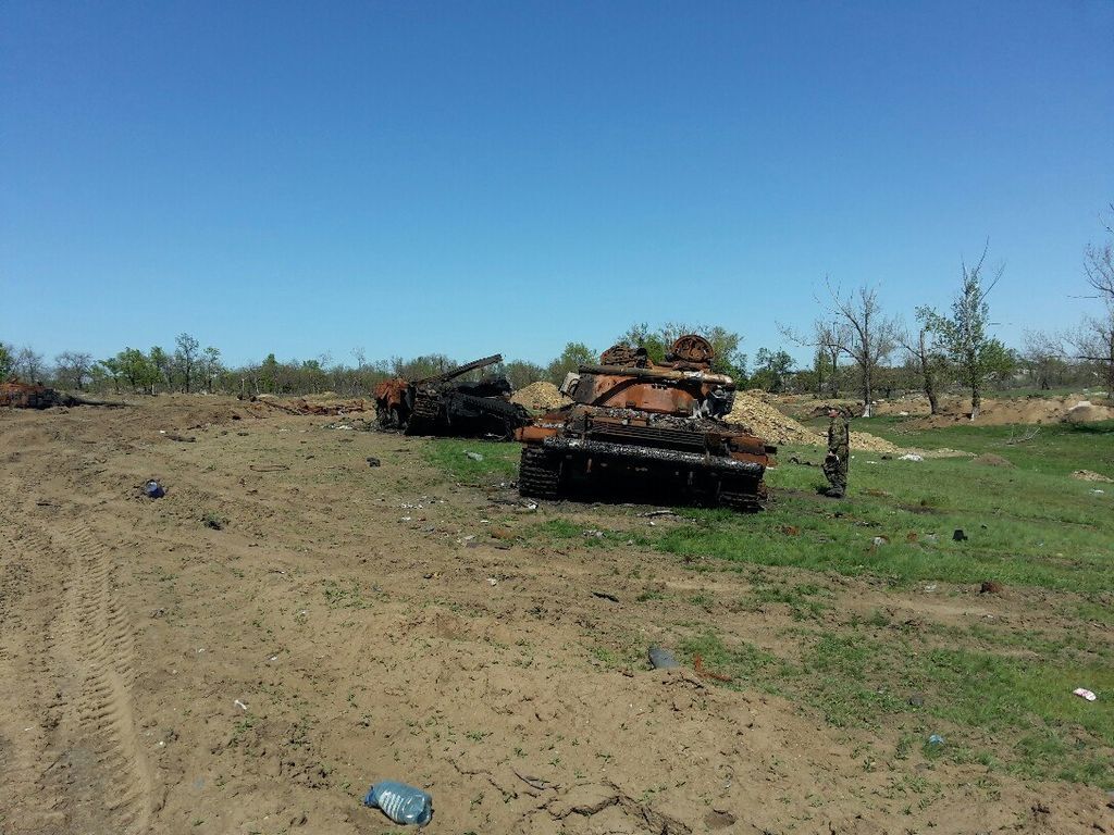
<instances>
[{"instance_id":1,"label":"blackened, collapsed vehicle wreck just left of the rusty front tank","mask_svg":"<svg viewBox=\"0 0 1114 835\"><path fill-rule=\"evenodd\" d=\"M500 362L502 355L495 354L423 380L395 377L379 383L374 389L379 424L401 429L408 435L510 440L516 430L530 422L530 413L510 402L510 381L501 375L460 380L471 371Z\"/></svg>"}]
</instances>

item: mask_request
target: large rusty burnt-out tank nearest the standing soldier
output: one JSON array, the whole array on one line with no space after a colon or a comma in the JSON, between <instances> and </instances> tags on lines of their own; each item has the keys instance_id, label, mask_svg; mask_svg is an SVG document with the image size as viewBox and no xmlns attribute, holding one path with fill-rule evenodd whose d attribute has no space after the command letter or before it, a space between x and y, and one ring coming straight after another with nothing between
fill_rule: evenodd
<instances>
[{"instance_id":1,"label":"large rusty burnt-out tank nearest the standing soldier","mask_svg":"<svg viewBox=\"0 0 1114 835\"><path fill-rule=\"evenodd\" d=\"M616 345L580 366L561 386L574 402L516 432L519 492L761 509L776 449L723 421L735 385L712 372L713 358L706 340L687 335L659 364Z\"/></svg>"}]
</instances>

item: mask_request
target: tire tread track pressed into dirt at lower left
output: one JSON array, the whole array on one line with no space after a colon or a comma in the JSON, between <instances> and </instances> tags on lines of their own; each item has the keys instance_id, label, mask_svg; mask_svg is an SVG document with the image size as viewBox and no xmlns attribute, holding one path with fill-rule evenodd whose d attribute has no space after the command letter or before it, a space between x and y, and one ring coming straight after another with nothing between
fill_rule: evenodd
<instances>
[{"instance_id":1,"label":"tire tread track pressed into dirt at lower left","mask_svg":"<svg viewBox=\"0 0 1114 835\"><path fill-rule=\"evenodd\" d=\"M10 822L16 832L140 835L150 827L153 776L131 706L134 638L116 567L80 522L23 505L14 519L0 517L0 543L30 556L35 584L50 597L36 622L19 625L17 701L39 721L4 752L14 755Z\"/></svg>"}]
</instances>

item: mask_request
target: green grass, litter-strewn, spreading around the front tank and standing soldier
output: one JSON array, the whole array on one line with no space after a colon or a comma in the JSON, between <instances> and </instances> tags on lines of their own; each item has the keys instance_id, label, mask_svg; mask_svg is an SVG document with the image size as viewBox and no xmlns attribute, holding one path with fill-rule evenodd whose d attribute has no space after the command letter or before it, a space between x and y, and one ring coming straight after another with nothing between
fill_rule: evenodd
<instances>
[{"instance_id":1,"label":"green grass, litter-strewn, spreading around the front tank and standing soldier","mask_svg":"<svg viewBox=\"0 0 1114 835\"><path fill-rule=\"evenodd\" d=\"M822 451L785 448L768 472L774 501L762 513L684 508L676 510L681 523L633 534L639 509L577 505L575 521L571 509L551 513L527 540L647 549L696 571L744 572L752 592L729 605L788 613L789 649L775 655L724 636L714 618L675 625L677 646L688 660L700 655L731 676L725 687L795 692L802 709L833 726L885 730L887 749L864 755L864 767L916 750L926 760L1114 788L1114 484L1069 477L1079 469L1114 477L1114 423L1044 426L1023 443L1010 442L1018 428L913 433L902 424L876 419L869 431L902 446L994 453L1008 465L857 452L849 497L833 501L818 494L818 466L790 463L819 462ZM466 449L485 460L472 461ZM512 479L518 449L438 441L427 454L453 478L480 483ZM585 512L599 532L588 539ZM960 529L967 539L956 541ZM788 569L799 579L786 582ZM862 616L837 608L840 576L906 598L970 595L995 581L1046 617L1037 626L957 627L895 620L881 607ZM638 599L647 617L657 597ZM600 657L629 665L641 654L632 645ZM1072 696L1077 686L1098 701ZM931 734L945 744L928 745Z\"/></svg>"}]
</instances>

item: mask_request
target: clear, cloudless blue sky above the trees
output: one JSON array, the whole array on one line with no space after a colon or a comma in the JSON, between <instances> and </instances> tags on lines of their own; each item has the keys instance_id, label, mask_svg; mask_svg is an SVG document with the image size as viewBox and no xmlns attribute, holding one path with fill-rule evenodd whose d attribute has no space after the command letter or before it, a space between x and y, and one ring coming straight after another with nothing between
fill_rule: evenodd
<instances>
[{"instance_id":1,"label":"clear, cloudless blue sky above the trees","mask_svg":"<svg viewBox=\"0 0 1114 835\"><path fill-rule=\"evenodd\" d=\"M987 238L1017 344L1112 199L1111 0L0 4L0 340L48 358L753 355Z\"/></svg>"}]
</instances>

